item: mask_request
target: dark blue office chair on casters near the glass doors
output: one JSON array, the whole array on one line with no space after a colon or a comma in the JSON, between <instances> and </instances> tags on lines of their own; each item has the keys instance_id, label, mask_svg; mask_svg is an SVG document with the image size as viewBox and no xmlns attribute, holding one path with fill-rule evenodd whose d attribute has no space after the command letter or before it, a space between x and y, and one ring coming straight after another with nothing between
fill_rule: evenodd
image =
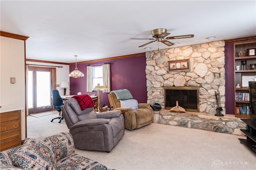
<instances>
[{"instance_id":1,"label":"dark blue office chair on casters near the glass doors","mask_svg":"<svg viewBox=\"0 0 256 170\"><path fill-rule=\"evenodd\" d=\"M64 105L62 97L60 96L60 93L57 89L52 90L52 105L55 106L55 110L59 112L59 117L56 117L54 119L60 119L59 123L64 119L62 116L61 106ZM61 113L61 114L60 114ZM54 120L52 119L51 122Z\"/></svg>"}]
</instances>

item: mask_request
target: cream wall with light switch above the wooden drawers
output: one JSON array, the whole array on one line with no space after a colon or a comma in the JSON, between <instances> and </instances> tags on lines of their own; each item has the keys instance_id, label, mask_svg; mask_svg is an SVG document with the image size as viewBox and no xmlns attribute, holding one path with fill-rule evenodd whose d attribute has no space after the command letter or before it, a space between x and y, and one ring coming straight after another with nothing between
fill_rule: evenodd
<instances>
[{"instance_id":1,"label":"cream wall with light switch above the wooden drawers","mask_svg":"<svg viewBox=\"0 0 256 170\"><path fill-rule=\"evenodd\" d=\"M26 136L24 41L1 36L0 106L22 107L21 138ZM15 77L15 84L10 78Z\"/></svg>"}]
</instances>

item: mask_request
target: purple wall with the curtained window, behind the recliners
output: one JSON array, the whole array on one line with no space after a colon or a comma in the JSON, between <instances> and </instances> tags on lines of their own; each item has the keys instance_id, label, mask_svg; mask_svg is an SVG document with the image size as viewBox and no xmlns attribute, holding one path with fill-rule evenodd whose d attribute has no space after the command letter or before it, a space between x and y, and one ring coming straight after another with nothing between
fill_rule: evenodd
<instances>
[{"instance_id":1,"label":"purple wall with the curtained window, behind the recliners","mask_svg":"<svg viewBox=\"0 0 256 170\"><path fill-rule=\"evenodd\" d=\"M110 90L128 89L133 98L139 103L147 102L146 87L146 56L129 57L124 59L113 59L101 62L77 64L78 70L84 73L84 77L70 77L70 95L98 94L98 91L86 92L86 65L110 63ZM70 65L70 72L75 69L75 65ZM100 92L100 103L103 106L110 106L108 100L109 93Z\"/></svg>"}]
</instances>

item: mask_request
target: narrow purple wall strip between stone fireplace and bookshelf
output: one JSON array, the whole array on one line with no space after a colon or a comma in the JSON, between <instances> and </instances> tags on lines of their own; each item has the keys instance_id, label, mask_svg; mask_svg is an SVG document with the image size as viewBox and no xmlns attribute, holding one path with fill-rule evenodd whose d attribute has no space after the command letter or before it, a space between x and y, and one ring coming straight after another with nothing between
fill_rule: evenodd
<instances>
[{"instance_id":1,"label":"narrow purple wall strip between stone fireplace and bookshelf","mask_svg":"<svg viewBox=\"0 0 256 170\"><path fill-rule=\"evenodd\" d=\"M225 44L226 114L235 114L234 43Z\"/></svg>"}]
</instances>

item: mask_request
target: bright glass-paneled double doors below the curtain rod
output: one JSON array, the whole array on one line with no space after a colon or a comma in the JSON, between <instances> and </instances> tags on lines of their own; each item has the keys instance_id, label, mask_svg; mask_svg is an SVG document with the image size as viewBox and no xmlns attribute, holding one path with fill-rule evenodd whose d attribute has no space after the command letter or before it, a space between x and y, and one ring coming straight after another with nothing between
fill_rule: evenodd
<instances>
[{"instance_id":1,"label":"bright glass-paneled double doors below the curtain rod","mask_svg":"<svg viewBox=\"0 0 256 170\"><path fill-rule=\"evenodd\" d=\"M52 69L28 67L28 114L52 110Z\"/></svg>"}]
</instances>

